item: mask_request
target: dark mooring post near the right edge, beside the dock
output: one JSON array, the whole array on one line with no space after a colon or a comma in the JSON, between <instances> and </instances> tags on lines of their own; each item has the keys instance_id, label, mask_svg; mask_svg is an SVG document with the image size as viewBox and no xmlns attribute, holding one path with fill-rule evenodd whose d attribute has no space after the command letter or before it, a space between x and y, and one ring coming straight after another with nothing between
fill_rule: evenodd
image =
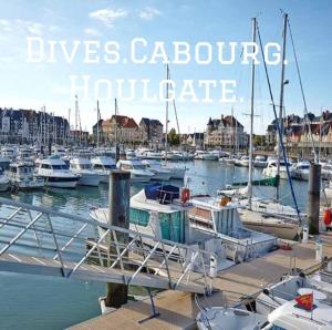
<instances>
[{"instance_id":1,"label":"dark mooring post near the right edge, beside the dock","mask_svg":"<svg viewBox=\"0 0 332 330\"><path fill-rule=\"evenodd\" d=\"M308 225L309 234L320 233L320 192L321 192L321 165L311 164L308 186Z\"/></svg>"}]
</instances>

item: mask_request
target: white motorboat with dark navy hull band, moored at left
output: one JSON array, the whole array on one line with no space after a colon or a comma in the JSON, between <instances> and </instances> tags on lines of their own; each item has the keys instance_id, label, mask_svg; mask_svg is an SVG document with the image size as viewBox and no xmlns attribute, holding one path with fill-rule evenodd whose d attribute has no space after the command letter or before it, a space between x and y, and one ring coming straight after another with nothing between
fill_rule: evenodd
<instances>
[{"instance_id":1,"label":"white motorboat with dark navy hull band, moored at left","mask_svg":"<svg viewBox=\"0 0 332 330\"><path fill-rule=\"evenodd\" d=\"M39 162L38 177L45 182L46 187L75 188L80 175L71 172L66 164L56 155Z\"/></svg>"}]
</instances>

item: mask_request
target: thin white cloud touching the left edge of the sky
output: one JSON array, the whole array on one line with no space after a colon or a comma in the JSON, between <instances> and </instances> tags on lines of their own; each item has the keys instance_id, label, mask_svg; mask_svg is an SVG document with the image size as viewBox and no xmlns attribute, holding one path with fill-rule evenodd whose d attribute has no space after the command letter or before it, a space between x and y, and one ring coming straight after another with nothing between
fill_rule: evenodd
<instances>
[{"instance_id":1,"label":"thin white cloud touching the left edge of the sky","mask_svg":"<svg viewBox=\"0 0 332 330\"><path fill-rule=\"evenodd\" d=\"M46 27L39 22L25 21L21 19L0 20L0 31L4 33L23 32L27 34L42 35L44 32L54 32L59 29L60 28L55 25Z\"/></svg>"}]
</instances>

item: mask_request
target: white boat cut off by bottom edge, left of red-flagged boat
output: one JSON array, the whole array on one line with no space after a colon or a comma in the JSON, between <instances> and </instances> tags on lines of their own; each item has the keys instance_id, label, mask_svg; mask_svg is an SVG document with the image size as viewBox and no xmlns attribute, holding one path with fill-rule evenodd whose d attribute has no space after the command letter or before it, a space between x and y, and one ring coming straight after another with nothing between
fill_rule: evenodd
<instances>
[{"instance_id":1,"label":"white boat cut off by bottom edge, left of red-flagged boat","mask_svg":"<svg viewBox=\"0 0 332 330\"><path fill-rule=\"evenodd\" d=\"M196 318L199 330L259 330L267 321L266 316L230 307L204 308Z\"/></svg>"}]
</instances>

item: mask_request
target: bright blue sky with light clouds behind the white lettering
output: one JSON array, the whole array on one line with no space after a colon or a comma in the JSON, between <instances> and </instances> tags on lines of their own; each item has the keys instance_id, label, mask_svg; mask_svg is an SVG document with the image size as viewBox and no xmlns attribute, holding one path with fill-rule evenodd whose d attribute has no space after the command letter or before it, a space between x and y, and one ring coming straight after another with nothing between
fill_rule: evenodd
<instances>
[{"instance_id":1,"label":"bright blue sky with light clouds behind the white lettering","mask_svg":"<svg viewBox=\"0 0 332 330\"><path fill-rule=\"evenodd\" d=\"M97 99L102 118L114 113L114 97L118 101L118 111L139 122L141 117L158 118L165 123L166 102L142 100L141 80L149 80L149 95L158 94L159 83L166 79L166 68L160 58L153 59L156 42L164 42L169 59L170 78L175 85L175 103L180 133L204 132L209 117L234 115L249 131L250 112L250 65L241 64L241 45L236 49L236 61L231 65L220 64L217 58L217 42L247 42L251 40L251 18L257 17L263 43L282 40L282 13L289 13L292 35L295 43L301 78L308 110L319 114L322 110L332 110L332 1L330 0L197 0L197 1L101 1L101 0L0 0L0 106L40 110L56 115L69 116L74 123L74 99L70 76L77 76L83 84L83 75L89 75L89 95L84 100L82 90L77 90L82 127L92 130L96 122ZM43 52L35 48L30 60L43 55L40 62L29 61L27 38L40 38ZM136 43L137 58L146 56L143 64L133 63L131 44L135 38L145 39L147 44ZM52 59L50 41L56 41ZM59 42L66 42L65 50L71 53L73 42L77 41L77 51L69 62ZM96 63L86 63L84 42L97 41L100 49L90 56ZM104 60L106 42L116 42L120 47L117 63ZM191 60L187 64L174 63L174 42L187 42ZM199 42L209 43L212 58L208 64L195 61L195 47ZM207 56L201 47L199 56ZM107 55L107 53L106 53ZM51 61L50 61L51 60ZM303 115L303 101L299 87L293 51L287 39L284 112ZM281 65L269 65L270 80L276 103L279 102ZM124 80L123 95L116 80ZM131 80L136 80L133 100ZM184 80L193 80L198 102L190 97L179 100ZM237 83L234 103L219 102L220 86L217 85L211 102L206 103L204 91L198 86L201 80L235 80ZM103 83L101 83L101 81ZM106 86L110 89L108 100ZM160 87L162 92L163 85ZM164 92L163 92L164 93ZM122 97L120 97L122 96ZM172 105L172 104L170 104ZM253 133L263 134L273 120L268 85L260 62L256 65L255 84L255 125ZM176 127L173 106L169 107L169 127Z\"/></svg>"}]
</instances>

